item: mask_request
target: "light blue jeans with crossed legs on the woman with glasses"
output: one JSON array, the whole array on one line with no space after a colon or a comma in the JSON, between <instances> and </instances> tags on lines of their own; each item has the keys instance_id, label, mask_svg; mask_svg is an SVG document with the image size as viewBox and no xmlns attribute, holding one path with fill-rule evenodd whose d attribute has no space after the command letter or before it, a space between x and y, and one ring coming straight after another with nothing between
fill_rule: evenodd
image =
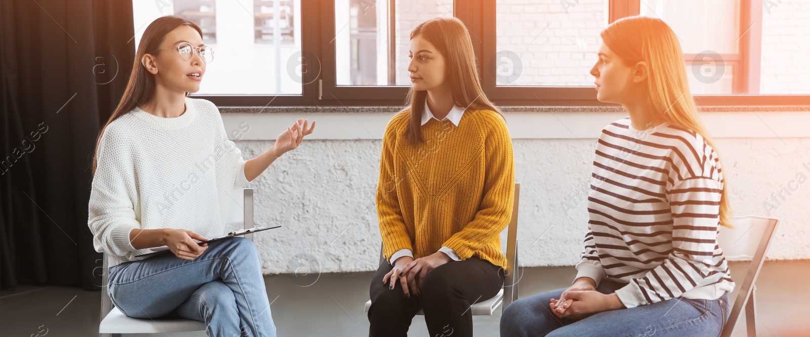
<instances>
[{"instance_id":1,"label":"light blue jeans with crossed legs on the woman with glasses","mask_svg":"<svg viewBox=\"0 0 810 337\"><path fill-rule=\"evenodd\" d=\"M194 261L172 253L109 270L113 304L132 318L188 318L209 336L275 336L275 324L253 241L214 241Z\"/></svg>"}]
</instances>

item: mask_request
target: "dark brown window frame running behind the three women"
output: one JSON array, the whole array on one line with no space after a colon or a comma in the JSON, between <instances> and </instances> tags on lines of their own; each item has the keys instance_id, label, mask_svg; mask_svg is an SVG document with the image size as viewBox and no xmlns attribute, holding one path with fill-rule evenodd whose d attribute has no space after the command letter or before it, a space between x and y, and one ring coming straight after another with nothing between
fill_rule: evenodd
<instances>
[{"instance_id":1,"label":"dark brown window frame running behind the three women","mask_svg":"<svg viewBox=\"0 0 810 337\"><path fill-rule=\"evenodd\" d=\"M397 0L389 1L395 8ZM399 0L407 1L407 0ZM641 0L609 0L610 22L640 13ZM740 28L748 28L752 22L761 21L762 0L742 0ZM471 32L472 45L484 92L490 100L501 106L616 106L596 100L593 87L552 86L497 86L494 69L490 62L497 50L496 0L456 0L454 16L461 19ZM337 85L334 41L335 1L301 0L301 50L318 58L320 72L317 78L307 77L302 84L301 95L198 95L211 100L215 105L227 106L402 106L409 87L407 86L344 86ZM754 25L759 27L759 25ZM761 28L752 28L740 41L739 62L735 66L735 92L759 83ZM331 60L327 62L327 60ZM494 66L494 65L492 65ZM738 69L739 68L739 69ZM313 75L309 75L313 76ZM311 82L310 82L311 81ZM742 84L739 84L742 83ZM762 106L762 105L810 105L810 95L695 95L698 106Z\"/></svg>"}]
</instances>

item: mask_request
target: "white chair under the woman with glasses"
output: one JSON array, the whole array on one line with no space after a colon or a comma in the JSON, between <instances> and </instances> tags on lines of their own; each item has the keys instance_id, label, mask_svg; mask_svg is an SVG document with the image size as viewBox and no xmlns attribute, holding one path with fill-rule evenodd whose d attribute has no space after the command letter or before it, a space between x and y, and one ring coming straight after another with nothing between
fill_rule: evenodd
<instances>
[{"instance_id":1,"label":"white chair under the woman with glasses","mask_svg":"<svg viewBox=\"0 0 810 337\"><path fill-rule=\"evenodd\" d=\"M254 190L252 188L231 191L228 205L228 224L244 224L245 228L254 227ZM253 239L253 234L245 234ZM168 332L205 331L205 323L190 319L139 319L127 317L118 308L113 308L107 293L109 275L107 254L104 254L104 274L101 282L101 323L99 334L103 337L121 337L122 334L165 334Z\"/></svg>"}]
</instances>

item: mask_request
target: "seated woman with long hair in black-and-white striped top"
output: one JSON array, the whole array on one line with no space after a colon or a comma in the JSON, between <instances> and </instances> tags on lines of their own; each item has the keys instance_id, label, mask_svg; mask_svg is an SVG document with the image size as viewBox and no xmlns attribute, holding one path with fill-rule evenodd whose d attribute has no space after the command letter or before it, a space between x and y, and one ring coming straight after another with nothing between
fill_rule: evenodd
<instances>
[{"instance_id":1,"label":"seated woman with long hair in black-and-white striped top","mask_svg":"<svg viewBox=\"0 0 810 337\"><path fill-rule=\"evenodd\" d=\"M597 99L629 118L599 135L577 276L509 305L501 335L719 335L734 282L716 239L731 207L677 36L642 16L601 36Z\"/></svg>"}]
</instances>

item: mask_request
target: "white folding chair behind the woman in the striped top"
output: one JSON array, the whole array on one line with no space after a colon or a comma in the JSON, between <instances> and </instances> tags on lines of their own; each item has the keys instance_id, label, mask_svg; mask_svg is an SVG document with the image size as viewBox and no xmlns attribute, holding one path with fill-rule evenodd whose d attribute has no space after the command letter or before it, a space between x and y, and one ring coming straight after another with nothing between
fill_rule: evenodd
<instances>
[{"instance_id":1,"label":"white folding chair behind the woman in the striped top","mask_svg":"<svg viewBox=\"0 0 810 337\"><path fill-rule=\"evenodd\" d=\"M765 262L771 238L779 224L779 220L761 216L735 217L731 220L734 228L721 227L718 236L718 245L723 250L723 256L729 261L751 261L748 273L740 286L740 292L734 299L731 314L726 326L723 326L721 337L731 337L731 331L740 318L740 312L745 308L745 325L748 336L757 335L757 307L755 296L757 290L757 276Z\"/></svg>"}]
</instances>

